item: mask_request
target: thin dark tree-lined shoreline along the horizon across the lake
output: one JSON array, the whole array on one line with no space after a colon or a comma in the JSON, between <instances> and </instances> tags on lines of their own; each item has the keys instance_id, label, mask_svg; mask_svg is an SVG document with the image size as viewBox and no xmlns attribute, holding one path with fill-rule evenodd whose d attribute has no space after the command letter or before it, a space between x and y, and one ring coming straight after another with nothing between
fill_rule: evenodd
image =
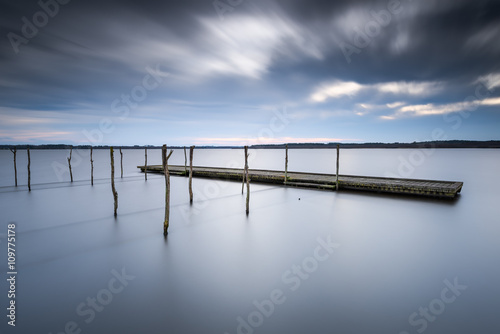
<instances>
[{"instance_id":1,"label":"thin dark tree-lined shoreline along the horizon across the lake","mask_svg":"<svg viewBox=\"0 0 500 334\"><path fill-rule=\"evenodd\" d=\"M490 140L490 141L468 141L468 140L448 140L448 141L425 141L425 142L413 142L413 143L291 143L288 144L290 149L320 149L320 148L336 148L337 145L343 149L360 149L360 148L418 148L418 149L433 149L433 148L500 148L500 140ZM66 150L70 148L74 149L109 149L111 145L66 145L66 144L41 144L41 145L0 145L0 149L30 149L35 150ZM160 149L161 146L154 145L126 145L119 146L113 145L115 148L122 149ZM184 146L169 146L171 149L183 149ZM243 146L196 146L197 149L241 149ZM250 145L249 148L252 149L284 149L285 144L267 144L267 145Z\"/></svg>"}]
</instances>

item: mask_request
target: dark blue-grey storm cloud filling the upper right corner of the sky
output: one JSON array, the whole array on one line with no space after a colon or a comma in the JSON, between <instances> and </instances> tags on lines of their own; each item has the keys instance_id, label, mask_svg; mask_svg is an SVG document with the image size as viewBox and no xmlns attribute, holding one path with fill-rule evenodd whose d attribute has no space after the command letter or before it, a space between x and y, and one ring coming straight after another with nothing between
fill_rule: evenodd
<instances>
[{"instance_id":1,"label":"dark blue-grey storm cloud filling the upper right corner of the sky","mask_svg":"<svg viewBox=\"0 0 500 334\"><path fill-rule=\"evenodd\" d=\"M281 2L285 3L294 20L317 27L315 33L329 41L326 66L344 77L470 80L499 69L499 2L396 1L398 13L391 14L389 24L374 37L368 36L366 47L356 41L364 42L370 22L376 22L374 13L387 13L392 1ZM360 50L350 55L349 66L338 53L342 42Z\"/></svg>"}]
</instances>

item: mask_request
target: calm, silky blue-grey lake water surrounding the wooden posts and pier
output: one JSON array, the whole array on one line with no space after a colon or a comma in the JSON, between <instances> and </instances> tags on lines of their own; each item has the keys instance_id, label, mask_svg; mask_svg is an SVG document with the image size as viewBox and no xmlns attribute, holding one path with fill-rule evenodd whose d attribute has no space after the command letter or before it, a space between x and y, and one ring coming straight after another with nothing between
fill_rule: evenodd
<instances>
[{"instance_id":1,"label":"calm, silky blue-grey lake water surrounding the wooden posts and pier","mask_svg":"<svg viewBox=\"0 0 500 334\"><path fill-rule=\"evenodd\" d=\"M342 150L341 174L463 181L455 201L171 178L143 150L0 151L0 270L16 224L16 328L1 333L499 333L500 150ZM283 169L284 151L250 150ZM160 163L150 150L150 164ZM175 151L172 164L184 164ZM195 150L195 165L242 166L242 150ZM335 151L290 150L289 170L333 173Z\"/></svg>"}]
</instances>

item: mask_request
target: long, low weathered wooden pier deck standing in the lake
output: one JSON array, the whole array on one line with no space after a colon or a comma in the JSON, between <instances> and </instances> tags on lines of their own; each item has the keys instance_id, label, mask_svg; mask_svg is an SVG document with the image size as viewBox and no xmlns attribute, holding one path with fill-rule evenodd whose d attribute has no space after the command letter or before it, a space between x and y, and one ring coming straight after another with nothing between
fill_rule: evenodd
<instances>
[{"instance_id":1,"label":"long, low weathered wooden pier deck standing in the lake","mask_svg":"<svg viewBox=\"0 0 500 334\"><path fill-rule=\"evenodd\" d=\"M144 172L144 166L137 166L137 168ZM170 175L186 176L184 166L170 165L168 170ZM148 166L148 172L163 173L163 168L161 165L151 165ZM335 174L288 172L287 175L287 186L325 190L336 189ZM193 177L241 182L243 169L193 166ZM285 173L274 170L250 169L249 178L252 183L283 185ZM339 175L340 189L391 194L455 198L462 190L462 186L463 182Z\"/></svg>"}]
</instances>

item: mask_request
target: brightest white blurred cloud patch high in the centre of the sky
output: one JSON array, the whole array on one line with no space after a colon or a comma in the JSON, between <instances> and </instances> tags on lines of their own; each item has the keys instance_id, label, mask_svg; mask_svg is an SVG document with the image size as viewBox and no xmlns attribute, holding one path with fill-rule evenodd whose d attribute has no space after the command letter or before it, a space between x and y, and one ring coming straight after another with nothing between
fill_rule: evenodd
<instances>
[{"instance_id":1,"label":"brightest white blurred cloud patch high in the centre of the sky","mask_svg":"<svg viewBox=\"0 0 500 334\"><path fill-rule=\"evenodd\" d=\"M323 57L314 36L280 16L233 15L223 23L216 17L198 20L202 26L198 43L182 43L178 47L184 52L171 57L173 63L191 75L259 79L278 56Z\"/></svg>"}]
</instances>

